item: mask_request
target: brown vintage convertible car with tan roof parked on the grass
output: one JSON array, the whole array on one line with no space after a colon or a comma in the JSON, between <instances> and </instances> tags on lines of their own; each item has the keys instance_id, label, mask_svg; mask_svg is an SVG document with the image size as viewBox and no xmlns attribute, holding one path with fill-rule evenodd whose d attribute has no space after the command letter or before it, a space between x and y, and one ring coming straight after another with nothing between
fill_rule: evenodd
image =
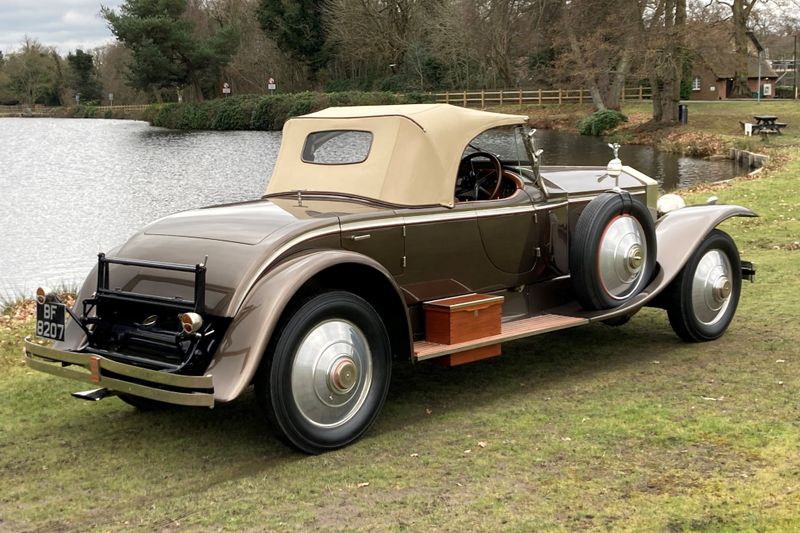
<instances>
[{"instance_id":1,"label":"brown vintage convertible car with tan roof parked on the grass","mask_svg":"<svg viewBox=\"0 0 800 533\"><path fill-rule=\"evenodd\" d=\"M212 407L251 384L308 453L359 438L394 359L457 365L501 343L666 309L686 341L733 318L715 229L734 205L658 207L623 166L544 167L526 117L449 105L330 108L286 123L258 200L158 220L100 254L66 308L37 291L35 369L139 408Z\"/></svg>"}]
</instances>

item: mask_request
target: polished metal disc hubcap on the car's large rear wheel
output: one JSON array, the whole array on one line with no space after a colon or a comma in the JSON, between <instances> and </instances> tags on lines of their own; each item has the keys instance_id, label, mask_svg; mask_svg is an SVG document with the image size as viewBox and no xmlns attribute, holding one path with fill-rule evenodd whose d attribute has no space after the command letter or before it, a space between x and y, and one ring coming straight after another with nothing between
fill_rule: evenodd
<instances>
[{"instance_id":1,"label":"polished metal disc hubcap on the car's large rear wheel","mask_svg":"<svg viewBox=\"0 0 800 533\"><path fill-rule=\"evenodd\" d=\"M311 424L337 427L361 409L372 385L372 355L364 333L347 320L309 331L292 363L292 397Z\"/></svg>"}]
</instances>

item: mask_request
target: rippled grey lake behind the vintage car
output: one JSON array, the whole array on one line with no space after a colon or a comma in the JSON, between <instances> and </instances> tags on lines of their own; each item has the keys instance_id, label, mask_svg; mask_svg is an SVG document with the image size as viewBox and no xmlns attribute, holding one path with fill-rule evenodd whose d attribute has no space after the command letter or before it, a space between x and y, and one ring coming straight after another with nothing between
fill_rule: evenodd
<instances>
[{"instance_id":1,"label":"rippled grey lake behind the vintage car","mask_svg":"<svg viewBox=\"0 0 800 533\"><path fill-rule=\"evenodd\" d=\"M550 165L605 165L599 139L538 131ZM258 198L280 132L182 132L130 120L0 119L0 301L79 284L97 252L176 211ZM667 190L737 173L729 161L623 146ZM738 171L741 173L741 171Z\"/></svg>"}]
</instances>

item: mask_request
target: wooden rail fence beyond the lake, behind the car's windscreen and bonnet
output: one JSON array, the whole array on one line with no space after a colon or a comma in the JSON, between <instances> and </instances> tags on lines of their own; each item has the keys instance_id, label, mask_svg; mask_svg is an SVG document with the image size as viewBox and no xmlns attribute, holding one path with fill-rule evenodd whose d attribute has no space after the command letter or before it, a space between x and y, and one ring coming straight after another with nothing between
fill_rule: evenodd
<instances>
[{"instance_id":1,"label":"wooden rail fence beyond the lake, behind the car's windscreen and bonnet","mask_svg":"<svg viewBox=\"0 0 800 533\"><path fill-rule=\"evenodd\" d=\"M583 104L592 97L587 89L495 89L480 91L445 91L433 93L436 103L463 107L488 107L523 104ZM642 101L651 98L649 87L626 87L622 101Z\"/></svg>"}]
</instances>

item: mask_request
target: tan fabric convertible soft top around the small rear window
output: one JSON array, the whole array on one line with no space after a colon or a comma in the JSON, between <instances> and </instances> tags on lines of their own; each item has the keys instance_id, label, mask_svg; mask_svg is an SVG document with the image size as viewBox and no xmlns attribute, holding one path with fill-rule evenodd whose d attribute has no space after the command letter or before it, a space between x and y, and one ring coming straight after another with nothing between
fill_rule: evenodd
<instances>
[{"instance_id":1,"label":"tan fabric convertible soft top around the small rear window","mask_svg":"<svg viewBox=\"0 0 800 533\"><path fill-rule=\"evenodd\" d=\"M398 205L452 207L467 143L487 129L526 118L447 104L329 107L286 122L266 192L341 192ZM304 162L308 135L331 130L372 133L367 158L343 165Z\"/></svg>"}]
</instances>

